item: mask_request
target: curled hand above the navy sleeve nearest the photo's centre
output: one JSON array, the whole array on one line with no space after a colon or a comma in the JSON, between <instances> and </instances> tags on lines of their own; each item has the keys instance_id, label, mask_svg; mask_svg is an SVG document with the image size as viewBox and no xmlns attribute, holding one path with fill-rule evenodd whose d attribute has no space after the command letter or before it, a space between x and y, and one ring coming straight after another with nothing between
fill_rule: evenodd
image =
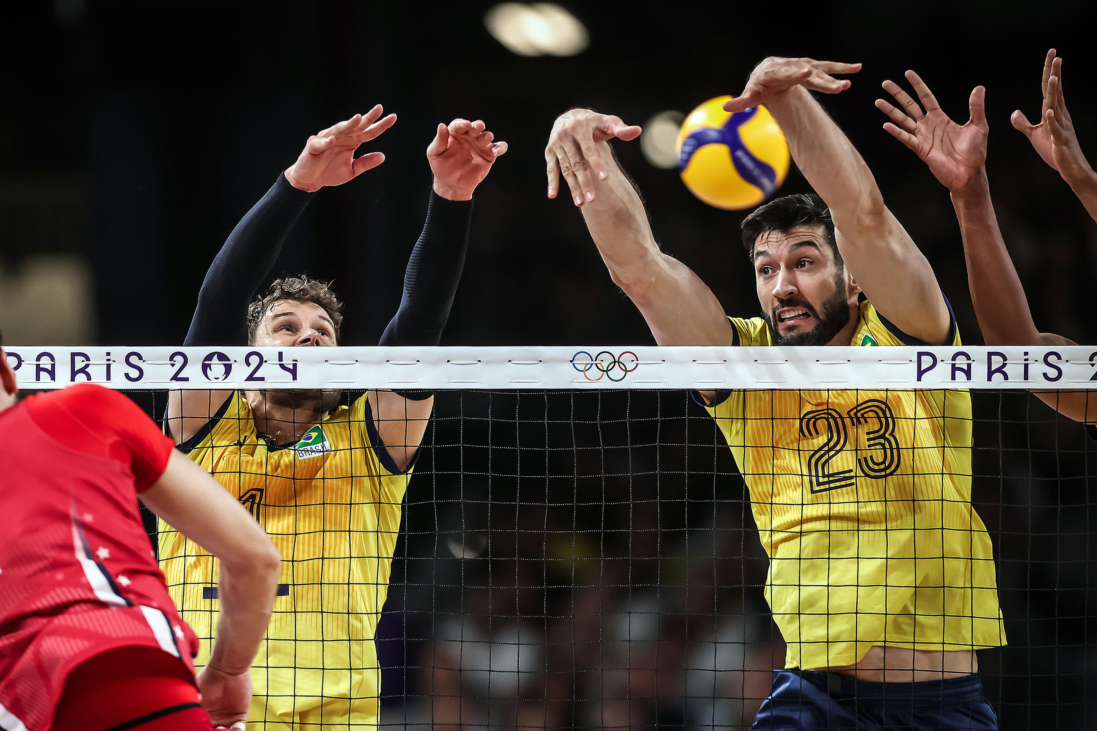
<instances>
[{"instance_id":1,"label":"curled hand above the navy sleeve nearest the photo's centre","mask_svg":"<svg viewBox=\"0 0 1097 731\"><path fill-rule=\"evenodd\" d=\"M454 119L439 124L427 147L427 160L434 173L434 193L450 201L468 201L496 158L507 151L496 142L483 119Z\"/></svg>"}]
</instances>

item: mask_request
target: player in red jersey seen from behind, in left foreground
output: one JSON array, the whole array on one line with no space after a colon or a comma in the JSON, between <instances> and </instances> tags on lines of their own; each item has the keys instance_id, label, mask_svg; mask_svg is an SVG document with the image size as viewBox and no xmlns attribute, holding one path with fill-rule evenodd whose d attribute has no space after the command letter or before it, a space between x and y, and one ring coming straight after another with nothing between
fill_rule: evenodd
<instances>
[{"instance_id":1,"label":"player in red jersey seen from behind, in left foreground","mask_svg":"<svg viewBox=\"0 0 1097 731\"><path fill-rule=\"evenodd\" d=\"M248 512L117 391L81 384L19 401L3 349L0 443L0 729L242 729L279 573ZM222 559L225 609L196 678L197 638L138 499Z\"/></svg>"}]
</instances>

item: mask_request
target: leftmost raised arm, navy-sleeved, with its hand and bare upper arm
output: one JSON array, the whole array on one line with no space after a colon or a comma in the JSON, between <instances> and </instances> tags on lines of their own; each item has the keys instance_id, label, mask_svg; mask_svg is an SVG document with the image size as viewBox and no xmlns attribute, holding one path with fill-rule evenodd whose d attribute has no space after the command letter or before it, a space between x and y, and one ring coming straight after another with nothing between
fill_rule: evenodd
<instances>
[{"instance_id":1,"label":"leftmost raised arm, navy-sleeved, with its hand and bare upper arm","mask_svg":"<svg viewBox=\"0 0 1097 731\"><path fill-rule=\"evenodd\" d=\"M206 272L184 345L242 345L248 304L267 281L290 229L325 185L341 185L381 164L385 156L354 150L396 122L381 105L308 138L297 161L236 225ZM231 391L172 391L168 429L182 444L202 429Z\"/></svg>"}]
</instances>

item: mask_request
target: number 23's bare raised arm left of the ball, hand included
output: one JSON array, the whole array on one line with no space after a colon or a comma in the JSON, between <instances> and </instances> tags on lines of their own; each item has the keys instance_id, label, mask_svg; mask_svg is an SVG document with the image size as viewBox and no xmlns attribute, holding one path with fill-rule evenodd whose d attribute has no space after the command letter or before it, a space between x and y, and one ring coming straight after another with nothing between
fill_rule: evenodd
<instances>
[{"instance_id":1,"label":"number 23's bare raised arm left of the ball, hand included","mask_svg":"<svg viewBox=\"0 0 1097 731\"><path fill-rule=\"evenodd\" d=\"M659 345L728 345L734 331L720 301L688 266L659 250L644 203L609 146L640 132L590 110L562 114L545 148L548 197L556 196L563 174L610 276Z\"/></svg>"}]
</instances>

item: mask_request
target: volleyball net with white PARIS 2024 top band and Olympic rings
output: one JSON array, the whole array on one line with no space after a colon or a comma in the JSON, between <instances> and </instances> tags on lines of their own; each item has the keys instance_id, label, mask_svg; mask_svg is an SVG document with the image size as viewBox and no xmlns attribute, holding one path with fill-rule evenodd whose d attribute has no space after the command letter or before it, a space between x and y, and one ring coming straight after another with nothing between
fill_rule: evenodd
<instances>
[{"instance_id":1,"label":"volleyball net with white PARIS 2024 top band and Olympic rings","mask_svg":"<svg viewBox=\"0 0 1097 731\"><path fill-rule=\"evenodd\" d=\"M249 507L283 556L286 545L301 551L286 557L301 566L283 572L285 598L257 659L257 694L271 707L328 708L330 728L369 728L362 719L373 708L388 728L749 728L771 671L793 656L788 602L777 618L767 602L774 582L789 596L788 573L773 568L782 557L770 558L781 536L822 525L875 532L887 546L909 534L917 544L919 530L936 525L919 524L925 514L943 521L946 535L963 533L940 515L969 515L965 483L993 561L972 556L979 529L969 515L964 541L923 540L913 563L884 549L891 562L882 579L857 579L861 591L871 595L881 581L885 593L905 586L912 571L937 594L959 591L965 601L914 608L927 626L946 626L943 639L919 642L954 650L957 636L999 627L976 596L996 587L1005 644L981 650L979 663L1000 728L1087 728L1097 711L1088 662L1097 452L1084 424L1030 393L1054 402L1084 392L1097 379L1092 349L12 346L8 354L23 389L99 382L158 418L172 389L339 390L347 404L376 388L434 392L412 476L396 492L355 491L355 480L384 473L381 460L360 468L349 459L341 469L351 488L336 484L335 427L325 436L331 455L313 466L313 453L296 455L291 475L312 480L310 492L303 481L279 488L239 461L214 470L223 481L225 470L248 472L263 488ZM703 404L728 403L726 391L749 396L714 419ZM359 415L347 429L366 419L349 413ZM728 437L721 419L745 426ZM234 439L247 443L242 429ZM369 437L365 424L359 431ZM280 499L279 489L287 490ZM795 506L781 496L789 490L814 501L814 522L781 523L781 510ZM758 504L762 494L768 505ZM395 507L396 524L382 518L363 530L348 517L371 501ZM320 525L270 522L271 511L306 509ZM827 511L863 519L838 530ZM759 515L768 522L761 533ZM958 545L962 556L951 555ZM163 546L161 536L161 561ZM867 546L816 558L828 570L879 558ZM821 584L838 579L798 570L805 625L845 612L813 604ZM186 571L194 591L181 594L183 616L208 640L215 583L201 569ZM176 574L166 574L171 584ZM375 626L362 595L384 602ZM887 615L907 609L845 614L884 615L890 632L897 630ZM282 647L271 644L275 637ZM796 658L810 654L806 644L795 648ZM380 690L358 682L371 669L380 669ZM330 708L344 690L351 710L337 719Z\"/></svg>"}]
</instances>

